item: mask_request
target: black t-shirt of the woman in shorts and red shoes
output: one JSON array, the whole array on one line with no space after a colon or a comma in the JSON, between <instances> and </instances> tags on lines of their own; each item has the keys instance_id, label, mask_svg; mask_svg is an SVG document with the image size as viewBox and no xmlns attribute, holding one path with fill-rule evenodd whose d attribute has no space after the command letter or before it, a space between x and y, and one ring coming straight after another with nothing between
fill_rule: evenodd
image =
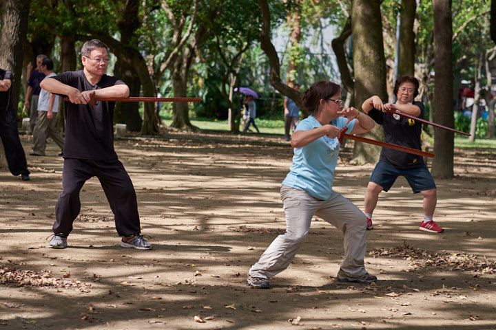
<instances>
[{"instance_id":1,"label":"black t-shirt of the woman in shorts and red shoes","mask_svg":"<svg viewBox=\"0 0 496 330\"><path fill-rule=\"evenodd\" d=\"M413 105L420 108L419 118L424 118L424 104L413 102ZM422 122L400 115L389 115L375 108L369 111L369 115L384 128L384 140L386 142L422 150L422 140L420 140ZM424 158L421 156L390 148L382 148L380 160L388 162L396 168L411 168L418 164L424 164Z\"/></svg>"}]
</instances>

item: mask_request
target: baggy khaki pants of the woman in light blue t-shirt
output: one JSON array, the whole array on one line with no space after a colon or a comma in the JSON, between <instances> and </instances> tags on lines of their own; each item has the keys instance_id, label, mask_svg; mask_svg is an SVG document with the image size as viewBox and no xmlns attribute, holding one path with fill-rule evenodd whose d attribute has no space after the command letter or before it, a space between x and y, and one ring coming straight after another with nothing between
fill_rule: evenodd
<instances>
[{"instance_id":1,"label":"baggy khaki pants of the woman in light blue t-shirt","mask_svg":"<svg viewBox=\"0 0 496 330\"><path fill-rule=\"evenodd\" d=\"M307 238L313 214L344 234L341 269L349 276L366 273L366 217L359 208L335 191L329 199L321 201L304 190L283 185L281 198L286 214L286 233L273 240L258 263L250 268L249 276L271 278L285 270Z\"/></svg>"}]
</instances>

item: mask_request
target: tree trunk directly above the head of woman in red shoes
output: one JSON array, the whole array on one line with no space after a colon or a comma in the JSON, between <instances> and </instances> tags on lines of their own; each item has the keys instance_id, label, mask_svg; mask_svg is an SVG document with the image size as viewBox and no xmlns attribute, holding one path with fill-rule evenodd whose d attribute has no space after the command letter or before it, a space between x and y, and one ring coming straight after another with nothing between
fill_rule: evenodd
<instances>
[{"instance_id":1,"label":"tree trunk directly above the head of woman in red shoes","mask_svg":"<svg viewBox=\"0 0 496 330\"><path fill-rule=\"evenodd\" d=\"M403 0L403 8L400 23L400 56L398 61L398 77L415 74L415 33L413 23L415 22L415 0Z\"/></svg>"}]
</instances>

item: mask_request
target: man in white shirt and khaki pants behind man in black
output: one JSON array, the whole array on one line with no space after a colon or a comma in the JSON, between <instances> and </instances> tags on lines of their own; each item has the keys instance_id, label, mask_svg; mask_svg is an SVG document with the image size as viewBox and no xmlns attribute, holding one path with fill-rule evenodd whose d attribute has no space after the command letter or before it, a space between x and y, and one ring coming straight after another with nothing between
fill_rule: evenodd
<instances>
[{"instance_id":1,"label":"man in white shirt and khaki pants behind man in black","mask_svg":"<svg viewBox=\"0 0 496 330\"><path fill-rule=\"evenodd\" d=\"M40 72L45 74L46 78L56 76L53 71L53 61L50 58L43 59ZM38 98L38 118L33 131L33 152L32 156L44 156L47 136L52 137L52 140L61 148L63 154L64 139L56 129L56 115L59 110L59 96L51 94L45 89L41 89Z\"/></svg>"}]
</instances>

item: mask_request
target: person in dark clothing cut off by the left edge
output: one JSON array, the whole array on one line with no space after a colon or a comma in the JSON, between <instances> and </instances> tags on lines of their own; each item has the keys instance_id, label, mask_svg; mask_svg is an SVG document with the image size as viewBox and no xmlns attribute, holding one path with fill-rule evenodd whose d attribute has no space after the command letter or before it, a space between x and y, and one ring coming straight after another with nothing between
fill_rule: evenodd
<instances>
[{"instance_id":1,"label":"person in dark clothing cut off by the left edge","mask_svg":"<svg viewBox=\"0 0 496 330\"><path fill-rule=\"evenodd\" d=\"M17 115L12 105L11 86L12 72L0 69L0 137L10 173L21 175L21 179L28 181L30 172L24 149L19 139Z\"/></svg>"}]
</instances>

